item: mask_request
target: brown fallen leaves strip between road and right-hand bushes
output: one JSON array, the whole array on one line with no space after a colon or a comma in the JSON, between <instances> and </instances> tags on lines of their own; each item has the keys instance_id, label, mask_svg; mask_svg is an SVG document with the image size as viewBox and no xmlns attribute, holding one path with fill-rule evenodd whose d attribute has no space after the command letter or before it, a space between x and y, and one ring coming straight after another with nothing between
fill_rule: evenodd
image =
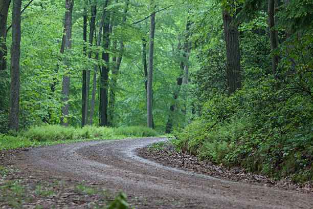
<instances>
[{"instance_id":1,"label":"brown fallen leaves strip between road and right-hand bushes","mask_svg":"<svg viewBox=\"0 0 313 209\"><path fill-rule=\"evenodd\" d=\"M164 143L161 147L158 145L158 148L154 148L153 145L150 145L138 149L137 151L138 155L143 158L185 171L193 171L225 180L265 186L278 186L288 190L313 194L312 181L294 183L290 178L275 180L263 174L247 173L244 168L227 168L222 164L217 165L207 160L200 160L198 157L188 153L178 152L174 149L173 145L169 143Z\"/></svg>"}]
</instances>

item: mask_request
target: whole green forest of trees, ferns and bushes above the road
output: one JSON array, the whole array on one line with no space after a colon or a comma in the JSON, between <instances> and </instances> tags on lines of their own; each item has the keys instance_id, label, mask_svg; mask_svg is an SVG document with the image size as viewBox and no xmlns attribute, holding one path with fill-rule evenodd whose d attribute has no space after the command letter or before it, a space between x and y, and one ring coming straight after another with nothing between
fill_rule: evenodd
<instances>
[{"instance_id":1,"label":"whole green forest of trees, ferns and bushes above the road","mask_svg":"<svg viewBox=\"0 0 313 209\"><path fill-rule=\"evenodd\" d=\"M0 11L2 150L172 134L217 164L313 180L311 0L0 0Z\"/></svg>"}]
</instances>

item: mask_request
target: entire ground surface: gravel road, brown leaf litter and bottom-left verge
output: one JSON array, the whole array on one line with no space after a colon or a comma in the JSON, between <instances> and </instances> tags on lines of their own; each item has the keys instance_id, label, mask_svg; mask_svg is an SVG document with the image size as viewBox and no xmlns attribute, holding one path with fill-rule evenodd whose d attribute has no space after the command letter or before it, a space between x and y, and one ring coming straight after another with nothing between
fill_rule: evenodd
<instances>
[{"instance_id":1,"label":"entire ground surface: gravel road, brown leaf litter and bottom-left verge","mask_svg":"<svg viewBox=\"0 0 313 209\"><path fill-rule=\"evenodd\" d=\"M164 140L88 141L1 152L0 208L102 208L121 190L135 208L313 207L309 184L227 170L168 145L144 148Z\"/></svg>"}]
</instances>

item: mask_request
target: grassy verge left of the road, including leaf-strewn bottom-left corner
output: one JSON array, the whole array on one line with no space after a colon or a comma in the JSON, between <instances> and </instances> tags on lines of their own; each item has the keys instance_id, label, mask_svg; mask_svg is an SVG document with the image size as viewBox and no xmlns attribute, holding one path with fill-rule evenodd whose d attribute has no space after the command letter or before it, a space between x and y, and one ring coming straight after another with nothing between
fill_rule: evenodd
<instances>
[{"instance_id":1,"label":"grassy verge left of the road, including leaf-strewn bottom-left corner","mask_svg":"<svg viewBox=\"0 0 313 209\"><path fill-rule=\"evenodd\" d=\"M159 136L157 132L146 127L80 129L58 125L34 127L18 134L0 134L0 208L124 209L129 208L129 204L141 204L143 200L138 197L106 190L95 182L55 179L43 171L18 170L7 156L25 147L156 136Z\"/></svg>"}]
</instances>

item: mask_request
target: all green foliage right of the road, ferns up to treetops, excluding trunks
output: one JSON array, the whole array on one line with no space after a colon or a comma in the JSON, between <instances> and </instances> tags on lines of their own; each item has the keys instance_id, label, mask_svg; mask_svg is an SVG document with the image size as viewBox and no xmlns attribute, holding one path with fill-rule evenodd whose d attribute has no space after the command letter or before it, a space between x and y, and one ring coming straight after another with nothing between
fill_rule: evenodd
<instances>
[{"instance_id":1,"label":"all green foliage right of the road, ferns up to treetops, excluding trunks","mask_svg":"<svg viewBox=\"0 0 313 209\"><path fill-rule=\"evenodd\" d=\"M311 2L292 0L276 10L281 44L273 53L267 5L254 0L242 4L236 23L243 87L229 97L221 19L210 3L202 6L192 12L191 36L199 61L191 80L200 117L175 134L175 144L216 163L312 180ZM273 54L279 57L275 75Z\"/></svg>"}]
</instances>

